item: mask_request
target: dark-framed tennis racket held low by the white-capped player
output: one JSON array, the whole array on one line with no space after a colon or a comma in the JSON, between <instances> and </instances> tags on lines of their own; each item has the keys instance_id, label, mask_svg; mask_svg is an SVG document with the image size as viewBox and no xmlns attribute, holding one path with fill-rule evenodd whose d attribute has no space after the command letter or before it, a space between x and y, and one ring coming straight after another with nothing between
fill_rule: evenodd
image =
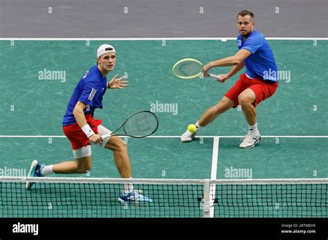
<instances>
[{"instance_id":1,"label":"dark-framed tennis racket held low by the white-capped player","mask_svg":"<svg viewBox=\"0 0 328 240\"><path fill-rule=\"evenodd\" d=\"M158 119L156 115L149 111L140 111L132 114L125 122L110 134L104 134L102 138L109 136L128 136L128 137L147 137L158 128ZM122 132L122 133L120 133Z\"/></svg>"}]
</instances>

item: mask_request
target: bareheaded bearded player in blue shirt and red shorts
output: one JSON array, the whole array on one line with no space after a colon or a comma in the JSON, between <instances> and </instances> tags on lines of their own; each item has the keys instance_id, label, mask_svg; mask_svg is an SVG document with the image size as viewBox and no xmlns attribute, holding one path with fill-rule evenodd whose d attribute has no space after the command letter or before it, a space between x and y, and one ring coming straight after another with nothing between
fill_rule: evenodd
<instances>
[{"instance_id":1,"label":"bareheaded bearded player in blue shirt and red shorts","mask_svg":"<svg viewBox=\"0 0 328 240\"><path fill-rule=\"evenodd\" d=\"M248 10L243 10L237 14L237 46L239 51L230 57L211 61L203 67L203 74L213 67L233 66L227 74L221 74L221 83L246 68L246 71L239 76L235 85L226 92L224 97L212 108L208 108L203 116L197 121L196 132L186 130L181 135L182 142L192 141L195 134L201 127L215 120L219 114L226 112L230 108L241 106L244 116L249 125L249 132L242 139L240 148L253 148L261 140L261 134L257 129L256 106L271 97L277 90L277 66L273 57L273 52L268 46L266 39L261 32L254 30L254 14Z\"/></svg>"}]
</instances>

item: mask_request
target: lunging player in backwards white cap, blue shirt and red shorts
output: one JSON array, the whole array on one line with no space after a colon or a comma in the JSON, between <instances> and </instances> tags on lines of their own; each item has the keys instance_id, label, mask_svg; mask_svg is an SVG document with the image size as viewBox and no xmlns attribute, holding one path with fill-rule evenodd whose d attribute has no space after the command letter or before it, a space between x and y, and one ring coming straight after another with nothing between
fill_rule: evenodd
<instances>
[{"instance_id":1,"label":"lunging player in backwards white cap, blue shirt and red shorts","mask_svg":"<svg viewBox=\"0 0 328 240\"><path fill-rule=\"evenodd\" d=\"M102 126L100 119L94 119L95 109L102 108L102 97L109 88L125 88L128 81L124 77L117 79L116 74L107 81L107 74L116 66L116 50L113 46L103 44L97 50L97 65L91 67L74 88L63 118L63 131L71 142L75 161L45 166L34 160L30 166L28 177L46 177L49 174L85 173L91 170L91 143L95 146L113 151L116 167L122 178L131 178L131 163L125 141L111 136L111 131ZM109 134L109 137L102 137ZM26 183L26 189L33 186ZM124 184L118 200L122 203L145 203L152 199L134 190L133 184Z\"/></svg>"}]
</instances>

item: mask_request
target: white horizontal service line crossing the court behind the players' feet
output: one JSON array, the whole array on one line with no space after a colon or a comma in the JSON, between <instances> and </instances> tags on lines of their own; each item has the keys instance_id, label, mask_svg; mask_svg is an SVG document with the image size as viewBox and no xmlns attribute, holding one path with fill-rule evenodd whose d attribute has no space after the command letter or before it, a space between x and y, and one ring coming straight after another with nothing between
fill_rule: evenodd
<instances>
[{"instance_id":1,"label":"white horizontal service line crossing the court behind the players' feet","mask_svg":"<svg viewBox=\"0 0 328 240\"><path fill-rule=\"evenodd\" d=\"M62 138L62 137L66 137L66 136L59 136L59 135L0 135L0 138L46 138L46 137L52 137L52 138ZM127 137L127 136L120 136L120 137ZM161 138L170 138L170 139L173 139L173 138L180 138L181 136L148 136L147 138L158 138L158 139L161 139ZM196 139L199 139L199 138L204 138L204 139L208 139L208 138L215 138L215 137L219 137L219 138L226 138L226 139L230 139L230 138L240 138L240 137L244 137L244 136L219 136L219 135L213 135L213 136L197 136ZM300 138L300 139L325 139L325 138L328 138L328 136L289 136L289 135L286 135L286 136L283 136L283 135L277 135L277 136L261 136L261 137L264 137L264 138L291 138L291 139L297 139L297 138Z\"/></svg>"}]
</instances>

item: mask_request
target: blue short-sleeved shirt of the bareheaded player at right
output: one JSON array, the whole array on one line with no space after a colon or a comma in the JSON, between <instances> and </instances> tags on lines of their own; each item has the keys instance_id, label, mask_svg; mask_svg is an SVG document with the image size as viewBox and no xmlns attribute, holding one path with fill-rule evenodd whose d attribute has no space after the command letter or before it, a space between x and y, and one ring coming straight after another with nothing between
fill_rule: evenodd
<instances>
[{"instance_id":1,"label":"blue short-sleeved shirt of the bareheaded player at right","mask_svg":"<svg viewBox=\"0 0 328 240\"><path fill-rule=\"evenodd\" d=\"M246 49L252 53L244 60L245 73L248 77L257 77L265 81L278 81L273 52L261 32L253 30L245 41L239 34L237 45L239 49Z\"/></svg>"}]
</instances>

